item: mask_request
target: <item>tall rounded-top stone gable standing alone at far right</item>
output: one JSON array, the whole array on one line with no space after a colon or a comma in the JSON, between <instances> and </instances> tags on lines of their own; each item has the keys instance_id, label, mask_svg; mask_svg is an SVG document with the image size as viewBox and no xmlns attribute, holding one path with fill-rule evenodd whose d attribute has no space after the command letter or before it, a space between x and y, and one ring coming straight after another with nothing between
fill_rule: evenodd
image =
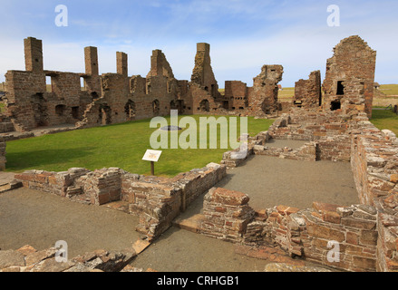
<instances>
[{"instance_id":1,"label":"tall rounded-top stone gable standing alone at far right","mask_svg":"<svg viewBox=\"0 0 398 290\"><path fill-rule=\"evenodd\" d=\"M327 60L324 110L372 116L376 52L359 36L345 38Z\"/></svg>"}]
</instances>

